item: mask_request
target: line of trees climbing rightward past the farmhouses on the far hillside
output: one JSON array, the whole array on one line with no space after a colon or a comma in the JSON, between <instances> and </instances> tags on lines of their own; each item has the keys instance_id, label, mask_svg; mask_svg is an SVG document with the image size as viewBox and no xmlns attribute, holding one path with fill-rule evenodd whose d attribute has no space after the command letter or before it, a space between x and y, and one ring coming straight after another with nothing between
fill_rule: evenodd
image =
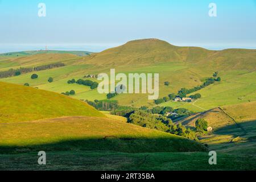
<instances>
[{"instance_id":1,"label":"line of trees climbing rightward past the farmhouses on the far hillside","mask_svg":"<svg viewBox=\"0 0 256 182\"><path fill-rule=\"evenodd\" d=\"M192 89L181 88L181 90L179 90L179 92L177 94L171 93L168 95L168 97L163 97L163 98L159 98L158 100L155 100L155 104L159 105L159 104L162 104L163 102L174 100L176 97L180 97L180 98L187 97L187 94L201 90L210 84L214 84L215 81L221 81L221 77L218 77L218 72L214 72L213 77L207 78L207 80L205 80L205 82L202 85L195 86ZM164 85L167 85L167 82L164 82ZM198 99L198 98L201 98L201 95L195 94L195 95L191 96L190 98Z\"/></svg>"}]
</instances>

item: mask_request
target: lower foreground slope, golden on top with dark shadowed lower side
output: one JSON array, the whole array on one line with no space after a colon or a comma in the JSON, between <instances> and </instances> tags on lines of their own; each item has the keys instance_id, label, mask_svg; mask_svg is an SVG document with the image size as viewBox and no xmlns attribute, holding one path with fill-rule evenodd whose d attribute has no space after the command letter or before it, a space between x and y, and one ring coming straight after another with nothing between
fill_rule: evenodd
<instances>
[{"instance_id":1,"label":"lower foreground slope, golden on top with dark shadowed lower side","mask_svg":"<svg viewBox=\"0 0 256 182\"><path fill-rule=\"evenodd\" d=\"M3 127L2 127L3 126ZM62 117L1 124L0 152L26 150L121 152L205 151L202 144L177 135L98 117Z\"/></svg>"}]
</instances>

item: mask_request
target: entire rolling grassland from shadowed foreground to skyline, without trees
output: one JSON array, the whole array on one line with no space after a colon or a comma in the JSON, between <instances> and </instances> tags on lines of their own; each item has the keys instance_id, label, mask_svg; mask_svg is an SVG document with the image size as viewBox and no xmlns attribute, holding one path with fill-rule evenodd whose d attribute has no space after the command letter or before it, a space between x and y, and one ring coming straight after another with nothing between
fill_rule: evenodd
<instances>
[{"instance_id":1,"label":"entire rolling grassland from shadowed foreground to skyline, without trees","mask_svg":"<svg viewBox=\"0 0 256 182\"><path fill-rule=\"evenodd\" d=\"M209 51L157 39L135 40L92 54L2 54L0 71L59 62L65 66L33 72L39 76L34 80L33 73L0 79L0 169L255 170L255 57L252 49ZM196 120L204 118L213 132L201 136L199 143L131 125L126 118L80 101L105 100L106 94L67 83L72 78L97 81L84 76L109 73L112 68L126 75L159 73L159 98L199 86L218 71L220 82L195 92L201 94L200 100L158 105L194 111L175 122L195 127ZM49 77L53 82L47 81ZM76 94L60 94L70 90ZM119 94L112 100L123 106L156 106L148 94ZM36 165L36 152L41 150L47 151L46 167ZM217 151L217 166L209 165L208 150Z\"/></svg>"}]
</instances>

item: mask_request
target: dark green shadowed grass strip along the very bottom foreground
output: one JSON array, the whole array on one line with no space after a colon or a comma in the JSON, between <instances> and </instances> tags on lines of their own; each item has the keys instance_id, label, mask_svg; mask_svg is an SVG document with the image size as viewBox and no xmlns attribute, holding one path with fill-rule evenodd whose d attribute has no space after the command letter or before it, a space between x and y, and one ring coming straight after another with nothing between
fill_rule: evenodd
<instances>
[{"instance_id":1,"label":"dark green shadowed grass strip along the very bottom foreground","mask_svg":"<svg viewBox=\"0 0 256 182\"><path fill-rule=\"evenodd\" d=\"M1 170L256 170L255 157L217 155L217 165L209 165L206 152L159 152L127 154L110 151L47 152L47 165L39 166L38 154L26 152L0 155Z\"/></svg>"}]
</instances>

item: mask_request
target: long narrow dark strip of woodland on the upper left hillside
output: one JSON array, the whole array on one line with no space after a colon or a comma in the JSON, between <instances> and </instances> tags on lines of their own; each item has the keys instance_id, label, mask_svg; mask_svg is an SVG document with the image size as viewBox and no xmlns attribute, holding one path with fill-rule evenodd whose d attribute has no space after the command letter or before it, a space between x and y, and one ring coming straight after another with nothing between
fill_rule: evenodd
<instances>
[{"instance_id":1,"label":"long narrow dark strip of woodland on the upper left hillside","mask_svg":"<svg viewBox=\"0 0 256 182\"><path fill-rule=\"evenodd\" d=\"M64 65L65 64L63 64L63 63L53 63L53 64L42 65L42 66L34 67L34 68L9 69L8 71L0 72L0 78L19 76L24 73L30 73L30 72L34 72L34 71L42 71L42 70L46 70L46 69L63 67Z\"/></svg>"}]
</instances>

